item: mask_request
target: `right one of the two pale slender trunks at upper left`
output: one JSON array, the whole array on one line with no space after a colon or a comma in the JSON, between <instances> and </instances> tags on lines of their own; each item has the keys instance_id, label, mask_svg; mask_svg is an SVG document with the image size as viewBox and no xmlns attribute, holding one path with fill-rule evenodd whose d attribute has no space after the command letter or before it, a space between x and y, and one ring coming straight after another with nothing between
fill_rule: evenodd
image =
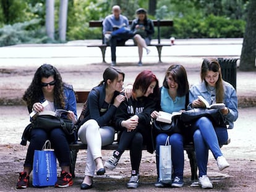
<instances>
[{"instance_id":1,"label":"right one of the two pale slender trunks at upper left","mask_svg":"<svg viewBox=\"0 0 256 192\"><path fill-rule=\"evenodd\" d=\"M68 1L61 0L59 6L59 40L66 41Z\"/></svg>"}]
</instances>

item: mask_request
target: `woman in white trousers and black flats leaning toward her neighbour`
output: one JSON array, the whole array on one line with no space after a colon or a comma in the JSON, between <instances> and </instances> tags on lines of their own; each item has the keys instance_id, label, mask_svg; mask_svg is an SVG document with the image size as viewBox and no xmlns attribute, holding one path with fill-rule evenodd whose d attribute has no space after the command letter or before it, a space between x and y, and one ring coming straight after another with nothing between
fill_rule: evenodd
<instances>
[{"instance_id":1,"label":"woman in white trousers and black flats leaning toward her neighbour","mask_svg":"<svg viewBox=\"0 0 256 192\"><path fill-rule=\"evenodd\" d=\"M87 144L87 160L85 178L80 185L81 190L93 186L93 175L104 175L101 146L113 143L115 130L111 120L117 107L124 101L120 94L124 84L124 73L121 70L108 67L103 73L103 81L93 88L88 95L88 107L82 111L83 119L79 117L78 135L82 143ZM80 115L81 116L81 115Z\"/></svg>"}]
</instances>

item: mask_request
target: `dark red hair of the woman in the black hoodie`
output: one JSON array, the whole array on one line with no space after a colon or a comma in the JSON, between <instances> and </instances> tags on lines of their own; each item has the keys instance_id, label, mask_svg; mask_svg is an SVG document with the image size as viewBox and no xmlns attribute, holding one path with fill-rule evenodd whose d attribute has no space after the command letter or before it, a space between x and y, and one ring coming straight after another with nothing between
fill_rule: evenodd
<instances>
[{"instance_id":1,"label":"dark red hair of the woman in the black hoodie","mask_svg":"<svg viewBox=\"0 0 256 192\"><path fill-rule=\"evenodd\" d=\"M142 93L145 94L148 90L148 86L150 86L150 84L153 81L156 81L156 86L151 96L153 96L154 98L158 98L159 83L158 83L158 79L156 78L156 75L153 72L151 72L151 70L143 70L142 72L139 73L139 75L137 75L134 81L134 86L132 88L132 91L135 92L135 90L141 90Z\"/></svg>"}]
</instances>

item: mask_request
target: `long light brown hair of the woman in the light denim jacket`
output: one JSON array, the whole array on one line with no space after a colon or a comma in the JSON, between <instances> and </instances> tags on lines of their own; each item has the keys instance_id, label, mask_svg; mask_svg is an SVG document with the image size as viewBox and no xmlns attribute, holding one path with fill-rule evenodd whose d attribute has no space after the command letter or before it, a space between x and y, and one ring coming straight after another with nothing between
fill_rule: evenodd
<instances>
[{"instance_id":1,"label":"long light brown hair of the woman in the light denim jacket","mask_svg":"<svg viewBox=\"0 0 256 192\"><path fill-rule=\"evenodd\" d=\"M224 99L224 87L223 87L223 79L221 75L221 67L220 64L216 59L210 58L210 59L203 59L202 67L201 67L201 80L202 82L205 82L205 85L207 86L208 83L205 81L205 76L207 75L208 71L218 72L219 78L216 81L216 102L223 102Z\"/></svg>"}]
</instances>

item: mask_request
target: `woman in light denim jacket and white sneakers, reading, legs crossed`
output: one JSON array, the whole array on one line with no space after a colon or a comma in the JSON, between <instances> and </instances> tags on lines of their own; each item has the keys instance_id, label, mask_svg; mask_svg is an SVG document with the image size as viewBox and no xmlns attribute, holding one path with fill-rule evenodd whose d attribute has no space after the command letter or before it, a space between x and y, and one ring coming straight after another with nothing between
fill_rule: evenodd
<instances>
[{"instance_id":1,"label":"woman in light denim jacket and white sneakers, reading, legs crossed","mask_svg":"<svg viewBox=\"0 0 256 192\"><path fill-rule=\"evenodd\" d=\"M192 86L189 90L189 107L205 107L198 96L201 95L210 104L223 102L226 106L221 109L228 128L233 128L238 117L237 94L232 85L221 77L220 64L216 59L204 59L201 67L202 83ZM207 117L201 117L193 126L195 156L199 170L198 182L202 188L213 188L207 177L208 149L211 150L221 170L229 167L224 158L220 145L228 140L228 131L225 124L215 126Z\"/></svg>"}]
</instances>

